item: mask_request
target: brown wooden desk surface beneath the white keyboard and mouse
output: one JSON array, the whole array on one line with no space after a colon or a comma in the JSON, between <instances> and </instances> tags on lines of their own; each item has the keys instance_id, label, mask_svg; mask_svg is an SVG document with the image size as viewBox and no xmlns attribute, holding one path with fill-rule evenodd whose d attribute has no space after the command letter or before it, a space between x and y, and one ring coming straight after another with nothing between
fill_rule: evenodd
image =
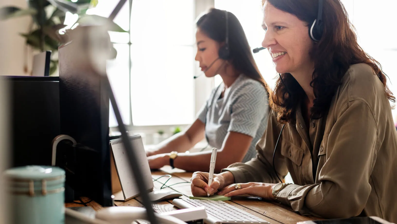
<instances>
[{"instance_id":1,"label":"brown wooden desk surface beneath the white keyboard and mouse","mask_svg":"<svg viewBox=\"0 0 397 224\"><path fill-rule=\"evenodd\" d=\"M169 166L168 167L166 166L162 168L160 171L152 172L152 177L154 179L157 179L160 176L166 174L172 175L172 178L166 183L167 186L175 183L179 183L169 187L170 189L182 193L183 196L181 198L186 199L189 198L189 196L192 196L192 193L190 191L190 183L181 183L181 182L189 182L192 173L184 172L183 170L179 170L179 169L172 170ZM160 189L160 187L164 184L164 182L166 182L167 179L168 179L167 177L163 177L155 181L154 189L155 190ZM87 197L82 197L81 201L85 203L90 201L90 199ZM225 201L225 202L239 209L245 210L246 212L254 214L255 216L258 216L270 222L271 224L296 224L297 222L300 221L316 219L316 217L312 217L312 216L301 216L300 214L297 214L296 212L291 210L291 208L285 207L279 203L262 201L256 198L247 199L245 197L233 197L231 201ZM75 203L66 203L65 205L66 207L84 206ZM92 207L94 210L102 209L102 206L94 201L91 201L87 205ZM130 199L125 202L116 201L115 205L143 207L140 197ZM177 209L172 205L172 200L155 203L153 207L155 210L158 211L171 211Z\"/></svg>"}]
</instances>

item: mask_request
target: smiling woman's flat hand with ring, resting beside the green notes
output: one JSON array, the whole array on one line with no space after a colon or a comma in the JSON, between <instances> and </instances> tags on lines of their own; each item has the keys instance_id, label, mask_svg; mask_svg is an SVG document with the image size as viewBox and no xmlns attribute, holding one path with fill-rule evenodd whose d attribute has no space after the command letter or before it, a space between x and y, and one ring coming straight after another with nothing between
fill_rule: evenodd
<instances>
[{"instance_id":1,"label":"smiling woman's flat hand with ring, resting beside the green notes","mask_svg":"<svg viewBox=\"0 0 397 224\"><path fill-rule=\"evenodd\" d=\"M239 185L241 186L241 189L238 189ZM252 195L267 200L273 200L274 197L272 195L272 191L274 185L276 185L276 183L234 183L222 189L222 191L218 192L218 195L225 195L226 197Z\"/></svg>"}]
</instances>

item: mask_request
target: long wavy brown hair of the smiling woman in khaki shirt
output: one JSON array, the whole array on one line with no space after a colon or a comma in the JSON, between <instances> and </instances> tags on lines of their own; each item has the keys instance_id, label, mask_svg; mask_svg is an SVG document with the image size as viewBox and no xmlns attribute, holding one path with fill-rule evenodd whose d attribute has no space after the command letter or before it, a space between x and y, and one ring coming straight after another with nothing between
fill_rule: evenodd
<instances>
[{"instance_id":1,"label":"long wavy brown hair of the smiling woman in khaki shirt","mask_svg":"<svg viewBox=\"0 0 397 224\"><path fill-rule=\"evenodd\" d=\"M266 1L279 10L295 15L306 22L307 26L317 18L318 0L262 0L262 6ZM395 102L395 97L386 85L386 75L382 66L358 45L355 29L340 0L324 0L323 24L322 38L310 51L310 57L314 62L310 86L313 87L315 97L314 105L310 109L311 117L318 119L324 116L329 109L331 98L341 85L343 75L351 65L358 63L372 67L384 85L385 95ZM269 101L272 109L278 113L278 122L286 123L295 120L296 108L305 93L290 73L283 73L281 77L283 80L278 78Z\"/></svg>"}]
</instances>

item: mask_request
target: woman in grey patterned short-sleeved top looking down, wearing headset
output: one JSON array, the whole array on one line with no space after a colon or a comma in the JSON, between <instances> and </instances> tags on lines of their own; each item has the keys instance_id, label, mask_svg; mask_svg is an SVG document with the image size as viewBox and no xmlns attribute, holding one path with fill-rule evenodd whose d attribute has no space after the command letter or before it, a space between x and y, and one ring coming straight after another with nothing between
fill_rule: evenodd
<instances>
[{"instance_id":1,"label":"woman in grey patterned short-sleeved top looking down, wearing headset","mask_svg":"<svg viewBox=\"0 0 397 224\"><path fill-rule=\"evenodd\" d=\"M270 111L266 83L254 62L243 27L235 15L211 9L197 20L197 54L206 77L220 75L187 131L160 143L146 153L150 168L164 165L188 171L208 171L211 151L183 153L204 137L218 156L215 171L256 155L255 144L266 129Z\"/></svg>"}]
</instances>

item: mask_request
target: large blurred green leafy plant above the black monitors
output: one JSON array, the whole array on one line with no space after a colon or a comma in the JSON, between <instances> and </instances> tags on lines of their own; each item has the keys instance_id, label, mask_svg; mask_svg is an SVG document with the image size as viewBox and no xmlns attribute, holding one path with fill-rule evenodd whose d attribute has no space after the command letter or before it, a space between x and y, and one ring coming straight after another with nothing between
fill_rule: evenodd
<instances>
[{"instance_id":1,"label":"large blurred green leafy plant above the black monitors","mask_svg":"<svg viewBox=\"0 0 397 224\"><path fill-rule=\"evenodd\" d=\"M59 30L65 28L64 24L66 12L79 15L76 23L80 25L100 23L107 18L99 15L87 15L89 8L98 4L98 0L28 0L29 8L21 9L14 6L0 8L0 20L12 19L15 17L27 16L32 17L27 33L22 33L25 37L26 44L32 46L34 50L40 52L51 50L52 58L50 63L50 74L55 73L58 69L58 46L70 41L72 31L66 30L65 34L60 34ZM73 26L72 26L73 27ZM127 32L116 23L110 23L110 31ZM26 48L25 48L26 49ZM113 48L112 54L116 57L116 50ZM27 54L25 53L25 57ZM27 73L27 60L25 60L24 71Z\"/></svg>"}]
</instances>

